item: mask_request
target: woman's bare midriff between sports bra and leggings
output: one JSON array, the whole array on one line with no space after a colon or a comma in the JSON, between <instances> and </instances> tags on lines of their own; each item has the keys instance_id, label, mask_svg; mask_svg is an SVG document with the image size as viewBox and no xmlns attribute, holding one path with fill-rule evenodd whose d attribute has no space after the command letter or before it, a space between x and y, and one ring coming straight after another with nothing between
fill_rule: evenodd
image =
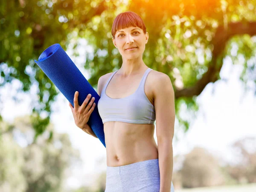
<instances>
[{"instance_id":1,"label":"woman's bare midriff between sports bra and leggings","mask_svg":"<svg viewBox=\"0 0 256 192\"><path fill-rule=\"evenodd\" d=\"M105 122L104 133L109 167L158 158L154 124Z\"/></svg>"}]
</instances>

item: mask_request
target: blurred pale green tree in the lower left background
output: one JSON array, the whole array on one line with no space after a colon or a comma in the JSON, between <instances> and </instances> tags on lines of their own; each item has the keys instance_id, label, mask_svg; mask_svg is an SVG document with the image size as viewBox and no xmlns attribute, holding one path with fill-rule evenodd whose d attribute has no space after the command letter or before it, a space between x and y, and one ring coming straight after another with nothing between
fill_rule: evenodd
<instances>
[{"instance_id":1,"label":"blurred pale green tree in the lower left background","mask_svg":"<svg viewBox=\"0 0 256 192\"><path fill-rule=\"evenodd\" d=\"M70 164L79 162L67 134L54 133L49 124L34 140L29 116L16 118L13 125L1 122L0 128L0 191L63 191Z\"/></svg>"}]
</instances>

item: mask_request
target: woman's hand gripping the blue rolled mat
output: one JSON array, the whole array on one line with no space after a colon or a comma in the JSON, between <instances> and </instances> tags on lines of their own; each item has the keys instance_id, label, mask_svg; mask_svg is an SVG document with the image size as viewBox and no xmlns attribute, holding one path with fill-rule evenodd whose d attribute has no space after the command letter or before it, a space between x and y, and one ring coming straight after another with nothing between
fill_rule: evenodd
<instances>
[{"instance_id":1,"label":"woman's hand gripping the blue rolled mat","mask_svg":"<svg viewBox=\"0 0 256 192\"><path fill-rule=\"evenodd\" d=\"M91 94L88 94L86 99L82 103L82 105L79 106L79 104L78 104L78 91L76 91L75 96L74 96L74 108L71 105L71 103L69 102L69 106L70 106L71 111L73 113L73 117L74 117L76 126L81 128L87 134L90 134L90 132L91 132L91 130L89 130L91 128L87 125L87 122L89 120L90 114L93 112L93 110L95 108L95 105L96 105L95 103L93 103L94 100L95 100L94 97L91 99L90 103L87 105L90 98L91 98Z\"/></svg>"}]
</instances>

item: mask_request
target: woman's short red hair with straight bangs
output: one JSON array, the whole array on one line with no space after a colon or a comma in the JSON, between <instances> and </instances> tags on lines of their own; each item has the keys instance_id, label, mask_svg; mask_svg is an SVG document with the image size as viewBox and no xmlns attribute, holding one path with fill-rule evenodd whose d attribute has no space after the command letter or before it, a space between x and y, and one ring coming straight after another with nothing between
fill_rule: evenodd
<instances>
[{"instance_id":1,"label":"woman's short red hair with straight bangs","mask_svg":"<svg viewBox=\"0 0 256 192\"><path fill-rule=\"evenodd\" d=\"M113 38L115 38L116 32L119 29L125 29L131 26L139 27L140 29L143 30L144 34L146 34L147 32L145 23L142 20L142 18L140 18L139 15L130 11L123 12L117 15L113 22L112 31L111 31Z\"/></svg>"}]
</instances>

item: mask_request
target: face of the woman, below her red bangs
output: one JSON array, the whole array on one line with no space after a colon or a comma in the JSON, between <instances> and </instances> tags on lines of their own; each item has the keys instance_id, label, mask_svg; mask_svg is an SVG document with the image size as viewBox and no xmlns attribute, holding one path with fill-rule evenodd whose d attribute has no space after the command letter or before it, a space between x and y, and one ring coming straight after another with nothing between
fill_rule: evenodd
<instances>
[{"instance_id":1,"label":"face of the woman, below her red bangs","mask_svg":"<svg viewBox=\"0 0 256 192\"><path fill-rule=\"evenodd\" d=\"M142 57L145 44L148 42L148 32L144 34L143 30L139 27L131 26L117 31L112 41L122 55L122 58L134 59ZM136 48L129 49L132 47Z\"/></svg>"}]
</instances>

